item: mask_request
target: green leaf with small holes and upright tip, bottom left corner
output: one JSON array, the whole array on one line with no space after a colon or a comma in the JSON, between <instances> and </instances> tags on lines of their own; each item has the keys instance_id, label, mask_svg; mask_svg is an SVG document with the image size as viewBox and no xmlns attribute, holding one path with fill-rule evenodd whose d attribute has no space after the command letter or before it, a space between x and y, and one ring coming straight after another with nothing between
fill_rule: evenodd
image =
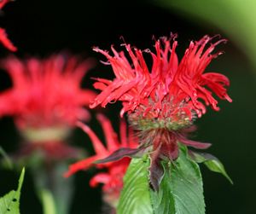
<instances>
[{"instance_id":1,"label":"green leaf with small holes and upright tip, bottom left corner","mask_svg":"<svg viewBox=\"0 0 256 214\"><path fill-rule=\"evenodd\" d=\"M1 214L20 214L20 190L25 175L25 169L21 171L18 189L12 190L9 194L5 194L0 198L0 213Z\"/></svg>"}]
</instances>

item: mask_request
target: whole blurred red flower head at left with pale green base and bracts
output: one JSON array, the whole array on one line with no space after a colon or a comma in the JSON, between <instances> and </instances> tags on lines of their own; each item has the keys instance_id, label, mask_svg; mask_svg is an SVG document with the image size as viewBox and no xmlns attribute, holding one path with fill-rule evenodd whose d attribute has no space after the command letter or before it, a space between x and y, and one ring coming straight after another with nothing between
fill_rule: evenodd
<instances>
[{"instance_id":1,"label":"whole blurred red flower head at left with pale green base and bracts","mask_svg":"<svg viewBox=\"0 0 256 214\"><path fill-rule=\"evenodd\" d=\"M0 116L14 117L20 134L30 142L22 144L19 157L33 151L43 152L45 160L78 156L79 150L65 140L78 119L90 119L84 107L96 94L80 84L93 65L90 59L79 61L64 54L26 61L11 56L1 61L13 85L0 92Z\"/></svg>"}]
</instances>

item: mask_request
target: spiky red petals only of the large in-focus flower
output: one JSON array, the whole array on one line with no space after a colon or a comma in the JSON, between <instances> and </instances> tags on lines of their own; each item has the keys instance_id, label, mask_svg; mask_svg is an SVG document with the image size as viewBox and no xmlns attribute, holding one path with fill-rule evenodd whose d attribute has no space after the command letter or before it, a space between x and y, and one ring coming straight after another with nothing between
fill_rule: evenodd
<instances>
[{"instance_id":1,"label":"spiky red petals only of the large in-focus flower","mask_svg":"<svg viewBox=\"0 0 256 214\"><path fill-rule=\"evenodd\" d=\"M96 52L107 57L116 78L113 81L97 78L98 82L94 86L102 90L102 93L90 107L105 107L110 102L122 101L121 115L128 112L136 113L137 116L143 115L147 119L169 118L174 121L181 114L190 120L193 113L201 117L202 113L206 113L205 104L217 111L218 101L213 98L212 92L221 99L231 101L225 89L230 81L216 72L203 73L212 59L221 54L212 54L214 48L226 40L220 39L215 43L210 43L211 41L212 38L205 36L198 42L190 42L182 60L178 62L175 37L172 40L157 40L155 54L146 51L153 59L150 72L143 58L143 51L131 48L130 44L125 44L125 48L132 64L124 52L118 53L113 47L113 56L107 51L95 48Z\"/></svg>"}]
</instances>

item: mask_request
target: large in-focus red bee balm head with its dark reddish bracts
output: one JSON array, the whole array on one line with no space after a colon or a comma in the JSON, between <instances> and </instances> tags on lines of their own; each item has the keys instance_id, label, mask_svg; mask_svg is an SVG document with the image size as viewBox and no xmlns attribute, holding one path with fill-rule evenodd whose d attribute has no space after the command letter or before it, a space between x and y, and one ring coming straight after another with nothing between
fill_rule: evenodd
<instances>
[{"instance_id":1,"label":"large in-focus red bee balm head with its dark reddish bracts","mask_svg":"<svg viewBox=\"0 0 256 214\"><path fill-rule=\"evenodd\" d=\"M155 175L159 172L155 168L160 168L160 159L177 159L177 142L196 148L210 146L209 143L190 141L187 136L194 130L193 120L206 113L206 105L218 111L218 101L212 92L220 99L232 101L225 89L230 85L228 78L216 72L203 73L212 59L222 54L212 54L212 51L226 40L210 43L212 38L205 36L197 42L192 41L182 60L178 61L175 38L174 35L169 40L157 40L155 53L124 44L132 65L124 52L118 53L113 47L113 56L102 49L94 49L107 57L116 78L113 81L97 78L94 86L102 93L90 107L105 107L109 102L122 101L120 114L128 113L131 125L140 131L140 147L152 148L150 177L153 188L160 182L160 175ZM152 56L151 72L143 52Z\"/></svg>"}]
</instances>

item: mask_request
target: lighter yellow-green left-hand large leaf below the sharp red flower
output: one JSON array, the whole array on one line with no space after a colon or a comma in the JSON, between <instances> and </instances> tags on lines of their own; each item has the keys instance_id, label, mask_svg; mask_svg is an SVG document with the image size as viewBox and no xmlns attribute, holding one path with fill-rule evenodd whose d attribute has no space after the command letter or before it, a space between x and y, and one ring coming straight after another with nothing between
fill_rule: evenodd
<instances>
[{"instance_id":1,"label":"lighter yellow-green left-hand large leaf below the sharp red flower","mask_svg":"<svg viewBox=\"0 0 256 214\"><path fill-rule=\"evenodd\" d=\"M132 159L124 177L118 214L153 214L148 184L149 159Z\"/></svg>"}]
</instances>

